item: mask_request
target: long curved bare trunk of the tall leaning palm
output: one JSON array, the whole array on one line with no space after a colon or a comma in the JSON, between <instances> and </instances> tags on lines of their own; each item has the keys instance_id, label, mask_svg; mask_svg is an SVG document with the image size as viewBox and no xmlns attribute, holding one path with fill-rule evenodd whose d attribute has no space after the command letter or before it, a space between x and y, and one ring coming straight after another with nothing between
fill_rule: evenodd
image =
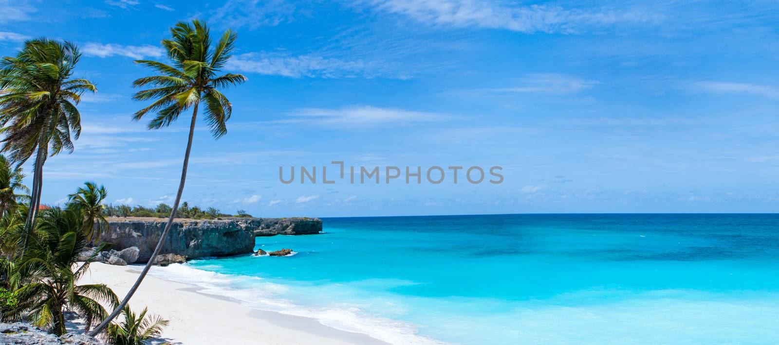
<instances>
[{"instance_id":1,"label":"long curved bare trunk of the tall leaning palm","mask_svg":"<svg viewBox=\"0 0 779 345\"><path fill-rule=\"evenodd\" d=\"M146 266L143 267L143 271L141 271L141 274L138 276L138 279L136 280L136 284L132 285L132 288L130 288L130 291L127 292L127 295L122 300L119 305L114 308L114 311L111 312L111 315L108 315L108 318L104 319L103 322L100 322L100 325L95 327L95 329L92 330L91 333L89 333L90 336L97 336L100 332L105 329L106 326L108 326L109 323L111 323L111 320L113 320L119 313L122 312L122 309L125 308L125 305L127 305L127 302L130 301L130 298L132 298L132 294L136 293L136 290L138 290L139 285L143 281L143 278L146 277L146 274L149 273L149 269L154 263L154 260L157 259L157 254L160 253L160 249L162 249L162 244L165 241L165 237L167 237L168 230L171 229L171 225L173 225L173 218L176 216L176 212L178 211L178 202L182 200L182 193L184 192L184 182L187 179L187 166L189 166L189 152L192 150L192 136L195 134L195 120L197 117L197 107L199 103L195 103L195 109L192 111L192 124L189 125L189 141L187 141L187 151L184 154L184 165L182 166L182 181L178 183L178 193L176 193L176 200L173 203L173 210L171 210L171 217L167 218L167 225L165 225L165 229L162 232L162 235L160 235L160 240L157 242L157 247L154 248L154 252L151 254L151 257L149 258L149 262L146 263Z\"/></svg>"}]
</instances>

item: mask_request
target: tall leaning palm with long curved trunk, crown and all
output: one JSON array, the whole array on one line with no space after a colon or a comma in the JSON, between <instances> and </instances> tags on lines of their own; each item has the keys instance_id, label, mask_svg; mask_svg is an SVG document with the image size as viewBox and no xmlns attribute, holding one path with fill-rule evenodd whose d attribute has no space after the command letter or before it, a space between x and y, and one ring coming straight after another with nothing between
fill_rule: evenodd
<instances>
[{"instance_id":1,"label":"tall leaning palm with long curved trunk, crown and all","mask_svg":"<svg viewBox=\"0 0 779 345\"><path fill-rule=\"evenodd\" d=\"M205 103L206 123L210 127L213 138L220 138L227 134L225 122L230 119L232 105L217 89L228 86L238 85L246 80L243 75L224 74L217 76L224 64L231 57L236 35L231 30L225 31L220 37L216 47L211 46L211 37L206 23L199 20L193 20L192 23L179 22L171 28L171 40L162 40L162 46L167 51L167 57L170 58L172 66L158 61L138 60L137 64L143 64L152 68L162 75L154 75L146 78L139 78L132 84L136 87L150 85L153 89L146 89L137 92L134 99L139 101L154 100L150 106L135 113L134 120L140 120L148 113L156 113L149 121L149 129L158 129L167 127L178 119L178 115L185 110L192 108L192 120L189 124L189 139L184 153L184 164L182 166L182 179L178 183L178 192L174 200L171 215L167 219L157 246L143 267L136 283L132 285L122 303L111 312L107 319L103 320L97 326L91 336L100 333L102 329L108 326L111 319L114 319L122 308L125 308L127 302L135 294L139 285L149 272L151 265L160 253L167 232L171 229L173 218L178 211L178 203L182 199L184 183L187 177L187 166L189 166L189 152L192 150L192 136L195 134L195 124L197 118L198 106L200 101Z\"/></svg>"}]
</instances>

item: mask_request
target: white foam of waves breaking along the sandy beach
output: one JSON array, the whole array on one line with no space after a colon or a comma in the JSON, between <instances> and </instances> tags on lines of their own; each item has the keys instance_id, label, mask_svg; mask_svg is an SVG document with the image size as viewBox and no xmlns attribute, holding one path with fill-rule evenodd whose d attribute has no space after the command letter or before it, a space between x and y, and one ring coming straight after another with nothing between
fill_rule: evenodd
<instances>
[{"instance_id":1,"label":"white foam of waves breaking along the sandy beach","mask_svg":"<svg viewBox=\"0 0 779 345\"><path fill-rule=\"evenodd\" d=\"M409 322L370 315L358 305L343 303L328 308L300 305L298 301L280 297L281 294L286 294L294 287L273 284L261 277L219 274L199 270L186 263L154 267L150 274L170 281L194 284L203 288L201 291L203 293L233 298L252 308L317 319L325 326L347 332L363 333L387 343L444 344L438 340L418 335L417 328Z\"/></svg>"}]
</instances>

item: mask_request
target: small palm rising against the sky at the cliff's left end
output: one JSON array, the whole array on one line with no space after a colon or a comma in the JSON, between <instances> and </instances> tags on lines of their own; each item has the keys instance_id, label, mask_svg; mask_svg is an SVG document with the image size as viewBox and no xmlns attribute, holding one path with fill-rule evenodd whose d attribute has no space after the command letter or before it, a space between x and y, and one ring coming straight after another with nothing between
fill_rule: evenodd
<instances>
[{"instance_id":1,"label":"small palm rising against the sky at the cliff's left end","mask_svg":"<svg viewBox=\"0 0 779 345\"><path fill-rule=\"evenodd\" d=\"M78 207L86 220L86 239L89 241L100 239L103 229L108 229L108 220L105 219L103 200L108 197L108 191L104 186L97 186L93 182L85 182L76 193L68 196L69 207ZM97 223L97 224L96 224ZM95 228L97 227L97 231Z\"/></svg>"}]
</instances>

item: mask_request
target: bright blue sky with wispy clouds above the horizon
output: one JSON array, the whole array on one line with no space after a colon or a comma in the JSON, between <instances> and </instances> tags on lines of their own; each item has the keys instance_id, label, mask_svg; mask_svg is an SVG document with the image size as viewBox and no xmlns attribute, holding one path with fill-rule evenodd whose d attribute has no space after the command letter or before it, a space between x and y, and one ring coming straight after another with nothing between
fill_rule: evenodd
<instances>
[{"instance_id":1,"label":"bright blue sky with wispy clouds above the horizon","mask_svg":"<svg viewBox=\"0 0 779 345\"><path fill-rule=\"evenodd\" d=\"M238 32L225 71L249 81L225 91L227 136L196 131L190 204L267 217L779 206L777 2L0 0L0 12L0 54L71 40L99 89L79 106L76 151L46 164L48 204L86 180L114 204L170 204L188 121L130 120L143 106L130 84L151 75L132 60L164 60L168 27L198 18ZM502 166L505 180L279 181L279 166L337 160Z\"/></svg>"}]
</instances>

